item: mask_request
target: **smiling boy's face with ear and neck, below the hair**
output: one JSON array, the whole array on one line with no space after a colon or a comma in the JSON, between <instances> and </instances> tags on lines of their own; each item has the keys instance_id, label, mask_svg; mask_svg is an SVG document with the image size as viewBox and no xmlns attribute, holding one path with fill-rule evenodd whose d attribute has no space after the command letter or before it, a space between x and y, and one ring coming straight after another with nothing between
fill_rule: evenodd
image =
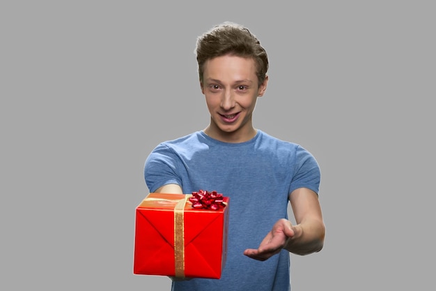
<instances>
[{"instance_id":1,"label":"smiling boy's face with ear and neck, below the hair","mask_svg":"<svg viewBox=\"0 0 436 291\"><path fill-rule=\"evenodd\" d=\"M226 55L205 62L203 92L210 112L205 133L223 142L244 142L256 134L252 114L265 82L258 85L253 59Z\"/></svg>"}]
</instances>

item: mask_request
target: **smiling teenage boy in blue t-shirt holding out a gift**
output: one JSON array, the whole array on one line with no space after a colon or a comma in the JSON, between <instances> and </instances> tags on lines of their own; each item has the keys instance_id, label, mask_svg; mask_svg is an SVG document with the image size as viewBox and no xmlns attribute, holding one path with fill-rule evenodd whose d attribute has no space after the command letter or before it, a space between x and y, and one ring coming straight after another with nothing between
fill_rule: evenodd
<instances>
[{"instance_id":1,"label":"smiling teenage boy in blue t-shirt holding out a gift","mask_svg":"<svg viewBox=\"0 0 436 291\"><path fill-rule=\"evenodd\" d=\"M324 242L320 168L303 147L253 126L269 66L256 36L224 22L198 37L195 52L210 123L157 145L144 175L150 192L230 197L228 253L219 280L173 279L172 290L290 290L290 253L318 252Z\"/></svg>"}]
</instances>

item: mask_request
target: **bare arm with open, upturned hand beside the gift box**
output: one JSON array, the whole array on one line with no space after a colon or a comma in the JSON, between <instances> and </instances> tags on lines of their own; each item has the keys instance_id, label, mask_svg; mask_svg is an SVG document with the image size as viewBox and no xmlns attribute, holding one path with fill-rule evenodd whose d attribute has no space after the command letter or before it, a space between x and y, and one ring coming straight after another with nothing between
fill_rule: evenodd
<instances>
[{"instance_id":1,"label":"bare arm with open, upturned hand beside the gift box","mask_svg":"<svg viewBox=\"0 0 436 291\"><path fill-rule=\"evenodd\" d=\"M297 255L321 251L325 224L322 220L318 195L308 188L298 188L290 194L290 204L296 225L280 219L272 227L257 249L248 248L244 255L254 260L267 260L283 248Z\"/></svg>"}]
</instances>

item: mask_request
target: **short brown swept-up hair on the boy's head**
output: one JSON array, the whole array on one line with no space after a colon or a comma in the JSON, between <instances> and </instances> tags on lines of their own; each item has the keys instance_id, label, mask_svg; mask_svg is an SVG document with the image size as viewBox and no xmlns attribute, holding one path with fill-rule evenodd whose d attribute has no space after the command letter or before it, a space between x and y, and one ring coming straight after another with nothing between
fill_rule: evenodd
<instances>
[{"instance_id":1,"label":"short brown swept-up hair on the boy's head","mask_svg":"<svg viewBox=\"0 0 436 291\"><path fill-rule=\"evenodd\" d=\"M265 80L268 70L268 56L260 41L247 28L233 22L224 22L198 36L196 42L198 76L203 83L204 64L208 59L231 54L252 58L256 63L258 85Z\"/></svg>"}]
</instances>

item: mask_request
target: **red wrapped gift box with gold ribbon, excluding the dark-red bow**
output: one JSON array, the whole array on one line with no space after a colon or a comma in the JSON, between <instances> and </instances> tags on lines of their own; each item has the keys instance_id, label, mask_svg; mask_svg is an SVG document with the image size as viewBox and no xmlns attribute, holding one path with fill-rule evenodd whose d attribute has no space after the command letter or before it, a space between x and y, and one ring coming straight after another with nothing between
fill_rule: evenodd
<instances>
[{"instance_id":1,"label":"red wrapped gift box with gold ribbon, excluding the dark-red bow","mask_svg":"<svg viewBox=\"0 0 436 291\"><path fill-rule=\"evenodd\" d=\"M134 274L221 278L227 255L226 207L195 209L190 194L150 193L136 209Z\"/></svg>"}]
</instances>

